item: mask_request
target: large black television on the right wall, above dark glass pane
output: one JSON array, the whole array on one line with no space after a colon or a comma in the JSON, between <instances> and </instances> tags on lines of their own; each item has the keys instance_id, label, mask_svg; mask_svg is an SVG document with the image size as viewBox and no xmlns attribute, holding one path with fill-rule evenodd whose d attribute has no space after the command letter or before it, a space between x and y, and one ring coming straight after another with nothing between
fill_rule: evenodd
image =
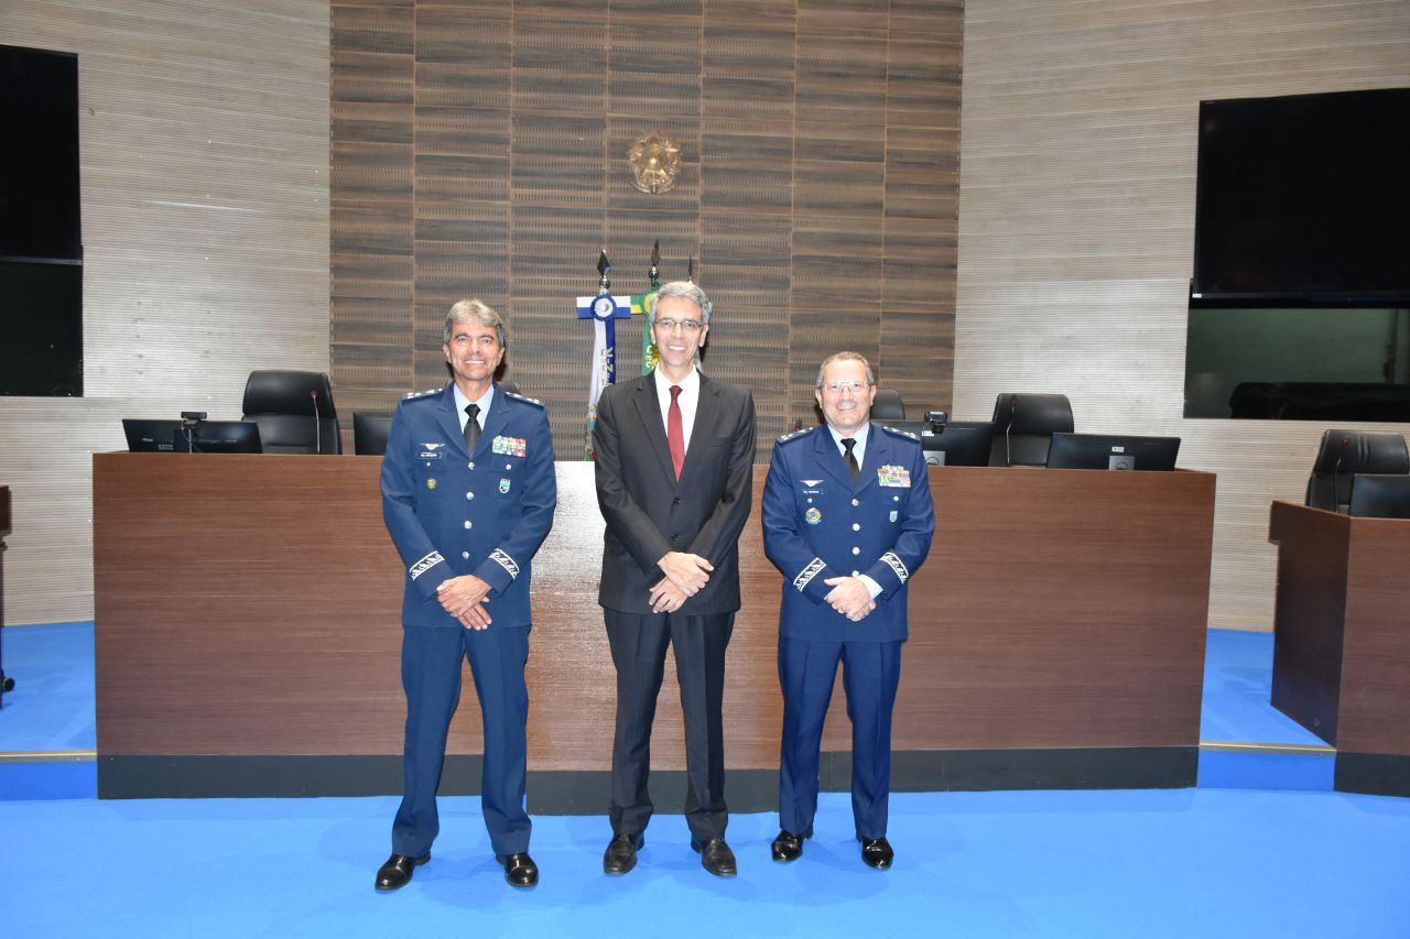
<instances>
[{"instance_id":1,"label":"large black television on the right wall, above dark glass pane","mask_svg":"<svg viewBox=\"0 0 1410 939\"><path fill-rule=\"evenodd\" d=\"M1200 103L1190 306L1410 305L1410 89Z\"/></svg>"}]
</instances>

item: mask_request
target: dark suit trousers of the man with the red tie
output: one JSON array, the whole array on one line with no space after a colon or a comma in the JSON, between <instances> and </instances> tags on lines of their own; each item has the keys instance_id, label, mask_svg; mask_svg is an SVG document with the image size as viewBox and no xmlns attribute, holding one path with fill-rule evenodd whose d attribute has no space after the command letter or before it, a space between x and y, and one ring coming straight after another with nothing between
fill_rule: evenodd
<instances>
[{"instance_id":1,"label":"dark suit trousers of the man with the red tie","mask_svg":"<svg viewBox=\"0 0 1410 939\"><path fill-rule=\"evenodd\" d=\"M725 649L735 613L623 613L603 609L618 675L616 735L612 742L612 832L637 835L651 819L647 775L651 722L666 673L666 647L675 650L685 725L685 823L698 840L723 837Z\"/></svg>"}]
</instances>

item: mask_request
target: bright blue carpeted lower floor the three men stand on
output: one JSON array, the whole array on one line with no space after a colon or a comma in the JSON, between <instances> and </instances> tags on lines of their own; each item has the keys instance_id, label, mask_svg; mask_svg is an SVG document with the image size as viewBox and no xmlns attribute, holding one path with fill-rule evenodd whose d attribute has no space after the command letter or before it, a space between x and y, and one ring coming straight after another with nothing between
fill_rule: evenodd
<instances>
[{"instance_id":1,"label":"bright blue carpeted lower floor the three men stand on","mask_svg":"<svg viewBox=\"0 0 1410 939\"><path fill-rule=\"evenodd\" d=\"M735 816L740 876L705 874L680 816L605 877L602 816L536 819L537 890L503 884L475 798L436 857L372 890L396 801L0 802L7 936L1355 936L1410 933L1410 801L1211 790L901 794L890 871L846 795L794 864L773 815Z\"/></svg>"}]
</instances>

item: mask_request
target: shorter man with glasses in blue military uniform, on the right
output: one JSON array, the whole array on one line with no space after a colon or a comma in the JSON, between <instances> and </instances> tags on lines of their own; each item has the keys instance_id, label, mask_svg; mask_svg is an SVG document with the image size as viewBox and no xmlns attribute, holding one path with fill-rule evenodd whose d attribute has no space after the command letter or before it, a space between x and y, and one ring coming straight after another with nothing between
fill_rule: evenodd
<instances>
[{"instance_id":1,"label":"shorter man with glasses in blue military uniform, on the right","mask_svg":"<svg viewBox=\"0 0 1410 939\"><path fill-rule=\"evenodd\" d=\"M907 637L907 581L931 550L935 505L921 444L870 423L876 376L856 352L818 369L826 426L783 437L764 482L764 551L784 574L784 728L777 861L802 854L818 811L822 726L838 663L852 719L852 815L862 860L887 869L891 711Z\"/></svg>"}]
</instances>

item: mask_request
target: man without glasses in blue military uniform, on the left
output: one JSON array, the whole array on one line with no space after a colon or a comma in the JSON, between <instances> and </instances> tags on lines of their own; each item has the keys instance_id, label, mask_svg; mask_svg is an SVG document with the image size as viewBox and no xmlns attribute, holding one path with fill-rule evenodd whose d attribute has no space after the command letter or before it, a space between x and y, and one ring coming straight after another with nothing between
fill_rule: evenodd
<instances>
[{"instance_id":1,"label":"man without glasses in blue military uniform, on the left","mask_svg":"<svg viewBox=\"0 0 1410 939\"><path fill-rule=\"evenodd\" d=\"M543 405L494 381L505 358L495 310L479 300L455 303L443 348L454 381L400 402L382 458L382 515L406 564L406 746L405 795L376 888L405 885L430 860L462 657L484 712L481 806L489 842L505 880L533 887L539 869L525 812L529 564L553 524L553 440Z\"/></svg>"}]
</instances>

